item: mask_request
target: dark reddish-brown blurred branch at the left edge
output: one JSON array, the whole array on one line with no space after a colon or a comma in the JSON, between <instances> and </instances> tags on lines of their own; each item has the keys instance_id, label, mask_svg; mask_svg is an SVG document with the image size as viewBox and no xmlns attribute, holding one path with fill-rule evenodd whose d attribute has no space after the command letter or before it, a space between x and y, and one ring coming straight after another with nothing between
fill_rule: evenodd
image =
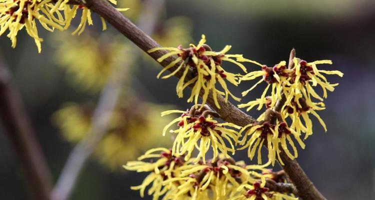
<instances>
[{"instance_id":1,"label":"dark reddish-brown blurred branch at the left edge","mask_svg":"<svg viewBox=\"0 0 375 200\"><path fill-rule=\"evenodd\" d=\"M0 52L1 53L1 52ZM20 159L34 199L50 199L51 179L18 90L0 54L0 115L5 133Z\"/></svg>"}]
</instances>

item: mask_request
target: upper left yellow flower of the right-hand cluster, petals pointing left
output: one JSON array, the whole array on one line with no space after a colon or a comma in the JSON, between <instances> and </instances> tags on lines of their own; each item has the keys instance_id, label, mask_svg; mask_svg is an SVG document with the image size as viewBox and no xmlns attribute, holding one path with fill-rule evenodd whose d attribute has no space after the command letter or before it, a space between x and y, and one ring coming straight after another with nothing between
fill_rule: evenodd
<instances>
[{"instance_id":1,"label":"upper left yellow flower of the right-hand cluster, petals pointing left","mask_svg":"<svg viewBox=\"0 0 375 200\"><path fill-rule=\"evenodd\" d=\"M258 71L251 71L247 73L246 75L243 75L242 77L239 78L239 81L242 80L253 80L259 76L261 78L259 79L258 82L256 82L252 87L247 89L246 91L242 92L242 96L245 96L249 91L251 91L253 88L256 87L259 83L265 81L267 86L265 87L263 93L261 94L260 98L257 98L256 100L249 101L247 103L239 104L238 107L248 107L246 110L250 110L252 107L258 105L257 109L260 110L263 104L267 104L267 99L266 93L269 89L269 86L272 85L271 87L271 95L270 95L270 104L267 105L269 107L273 107L276 99L281 98L281 91L285 92L283 89L283 86L285 85L290 85L288 79L289 78L289 73L291 73L291 70L287 69L286 67L286 62L281 61L278 64L274 65L273 67L267 67L266 65L261 65L260 63L245 59L245 58L237 58L238 61L246 61L246 62L251 62L259 65L261 67L261 70Z\"/></svg>"}]
</instances>

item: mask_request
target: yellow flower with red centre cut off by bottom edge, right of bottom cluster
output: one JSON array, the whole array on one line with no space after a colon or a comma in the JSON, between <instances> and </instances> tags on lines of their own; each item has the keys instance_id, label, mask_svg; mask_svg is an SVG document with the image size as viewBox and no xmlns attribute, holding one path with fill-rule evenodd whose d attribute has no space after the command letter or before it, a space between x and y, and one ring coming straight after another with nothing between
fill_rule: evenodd
<instances>
[{"instance_id":1,"label":"yellow flower with red centre cut off by bottom edge, right of bottom cluster","mask_svg":"<svg viewBox=\"0 0 375 200\"><path fill-rule=\"evenodd\" d=\"M242 184L237 188L238 191L242 191L230 200L297 200L298 198L292 195L279 193L275 191L269 191L269 188L265 187L265 178L261 178L261 182L254 182L252 184Z\"/></svg>"}]
</instances>

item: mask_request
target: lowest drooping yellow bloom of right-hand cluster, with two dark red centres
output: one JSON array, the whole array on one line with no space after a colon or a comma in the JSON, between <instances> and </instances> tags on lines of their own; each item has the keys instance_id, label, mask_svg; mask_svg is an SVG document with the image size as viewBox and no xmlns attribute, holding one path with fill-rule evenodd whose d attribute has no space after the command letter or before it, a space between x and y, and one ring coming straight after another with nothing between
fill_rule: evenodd
<instances>
[{"instance_id":1,"label":"lowest drooping yellow bloom of right-hand cluster, with two dark red centres","mask_svg":"<svg viewBox=\"0 0 375 200\"><path fill-rule=\"evenodd\" d=\"M238 141L239 144L242 145L240 148L238 148L238 150L247 148L247 156L252 159L257 148L258 164L261 164L262 162L260 151L263 147L264 142L266 142L268 159L271 161L272 165L274 165L276 157L279 160L280 164L283 164L279 156L279 153L281 152L279 148L280 145L290 159L294 159L298 156L297 149L290 137L290 134L293 135L294 139L297 140L302 148L304 148L305 146L302 140L299 138L300 134L297 133L294 129L288 128L286 122L284 121L279 121L276 125L273 125L268 121L260 121L258 124L248 124L239 131L239 135L241 135L241 133L245 130L246 132L243 138ZM250 136L249 139L247 139L248 136ZM290 153L286 144L286 140L292 147L293 154Z\"/></svg>"}]
</instances>

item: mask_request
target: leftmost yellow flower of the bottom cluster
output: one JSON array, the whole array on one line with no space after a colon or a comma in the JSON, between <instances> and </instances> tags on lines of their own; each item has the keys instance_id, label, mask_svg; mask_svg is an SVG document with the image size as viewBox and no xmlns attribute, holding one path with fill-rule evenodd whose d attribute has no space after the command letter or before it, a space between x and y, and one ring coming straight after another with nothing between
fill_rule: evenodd
<instances>
[{"instance_id":1,"label":"leftmost yellow flower of the bottom cluster","mask_svg":"<svg viewBox=\"0 0 375 200\"><path fill-rule=\"evenodd\" d=\"M161 151L159 153L155 153ZM141 161L143 159L157 159L155 161ZM152 186L148 189L148 195L153 195L154 200L158 199L159 196L172 196L177 192L177 186L170 182L169 184L163 184L163 180L171 179L174 176L178 176L180 173L180 166L184 164L183 158L175 157L171 154L171 151L167 148L152 148L146 151L143 155L138 157L138 161L128 161L123 167L127 170L137 172L150 172L146 178L144 178L142 184L138 186L132 186L131 189L139 190L140 196L144 196L144 190L147 185L152 183ZM163 198L171 199L171 198Z\"/></svg>"}]
</instances>

